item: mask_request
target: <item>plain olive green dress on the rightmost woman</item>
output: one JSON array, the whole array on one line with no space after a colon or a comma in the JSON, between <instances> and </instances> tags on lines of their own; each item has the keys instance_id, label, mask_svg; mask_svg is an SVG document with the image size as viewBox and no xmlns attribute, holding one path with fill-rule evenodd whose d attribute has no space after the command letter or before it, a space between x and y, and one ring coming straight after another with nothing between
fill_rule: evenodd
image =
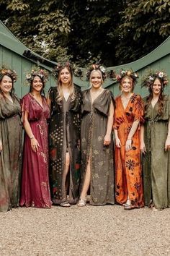
<instances>
[{"instance_id":1,"label":"plain olive green dress on the rightmost woman","mask_svg":"<svg viewBox=\"0 0 170 256\"><path fill-rule=\"evenodd\" d=\"M147 98L143 99L146 104ZM146 109L144 142L146 155L143 155L143 184L145 205L151 200L156 208L170 207L170 153L165 152L170 116L170 98L164 96L163 114L158 114L158 103Z\"/></svg>"}]
</instances>

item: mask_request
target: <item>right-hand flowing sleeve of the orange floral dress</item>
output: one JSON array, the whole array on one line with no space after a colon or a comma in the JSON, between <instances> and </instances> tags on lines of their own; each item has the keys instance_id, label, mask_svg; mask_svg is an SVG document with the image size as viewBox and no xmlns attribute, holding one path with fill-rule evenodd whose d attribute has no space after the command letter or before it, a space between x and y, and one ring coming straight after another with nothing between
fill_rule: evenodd
<instances>
[{"instance_id":1,"label":"right-hand flowing sleeve of the orange floral dress","mask_svg":"<svg viewBox=\"0 0 170 256\"><path fill-rule=\"evenodd\" d=\"M144 123L144 103L140 95L135 99L134 121L139 120L140 124Z\"/></svg>"}]
</instances>

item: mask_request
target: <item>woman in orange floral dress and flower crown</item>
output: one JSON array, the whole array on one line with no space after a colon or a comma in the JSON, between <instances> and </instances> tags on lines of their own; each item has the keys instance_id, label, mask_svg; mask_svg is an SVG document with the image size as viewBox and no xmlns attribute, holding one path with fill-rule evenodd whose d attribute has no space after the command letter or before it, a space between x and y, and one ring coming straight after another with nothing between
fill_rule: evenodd
<instances>
[{"instance_id":1,"label":"woman in orange floral dress and flower crown","mask_svg":"<svg viewBox=\"0 0 170 256\"><path fill-rule=\"evenodd\" d=\"M121 95L115 108L115 193L125 210L143 207L143 184L140 166L140 122L143 121L143 102L133 93L138 74L121 70L117 76Z\"/></svg>"}]
</instances>

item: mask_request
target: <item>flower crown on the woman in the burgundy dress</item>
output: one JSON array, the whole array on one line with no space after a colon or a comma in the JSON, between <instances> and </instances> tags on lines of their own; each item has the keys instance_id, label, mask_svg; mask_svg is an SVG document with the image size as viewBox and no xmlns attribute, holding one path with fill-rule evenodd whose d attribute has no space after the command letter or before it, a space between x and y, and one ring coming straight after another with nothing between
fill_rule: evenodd
<instances>
[{"instance_id":1,"label":"flower crown on the woman in the burgundy dress","mask_svg":"<svg viewBox=\"0 0 170 256\"><path fill-rule=\"evenodd\" d=\"M41 69L40 67L34 67L30 73L26 74L26 80L30 84L34 77L40 77L43 82L47 82L48 80L48 71L45 69Z\"/></svg>"}]
</instances>

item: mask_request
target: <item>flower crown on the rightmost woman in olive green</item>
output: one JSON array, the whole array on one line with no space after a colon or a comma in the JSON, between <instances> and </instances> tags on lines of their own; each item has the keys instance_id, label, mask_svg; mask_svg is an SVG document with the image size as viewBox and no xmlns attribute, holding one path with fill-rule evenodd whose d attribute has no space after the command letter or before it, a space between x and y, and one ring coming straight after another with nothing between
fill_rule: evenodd
<instances>
[{"instance_id":1,"label":"flower crown on the rightmost woman in olive green","mask_svg":"<svg viewBox=\"0 0 170 256\"><path fill-rule=\"evenodd\" d=\"M158 78L161 80L163 87L168 84L168 77L167 74L163 71L154 71L153 69L148 69L148 74L146 74L145 77L143 77L142 80L142 87L148 87L151 88L153 85L154 80Z\"/></svg>"}]
</instances>

